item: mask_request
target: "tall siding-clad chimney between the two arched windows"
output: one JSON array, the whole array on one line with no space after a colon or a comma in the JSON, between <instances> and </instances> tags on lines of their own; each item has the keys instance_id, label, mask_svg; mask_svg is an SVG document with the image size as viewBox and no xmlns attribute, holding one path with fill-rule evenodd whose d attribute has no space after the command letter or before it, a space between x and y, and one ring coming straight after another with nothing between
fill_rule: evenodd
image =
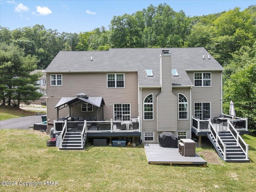
<instances>
[{"instance_id":1,"label":"tall siding-clad chimney between the two arched windows","mask_svg":"<svg viewBox=\"0 0 256 192\"><path fill-rule=\"evenodd\" d=\"M177 130L177 96L172 92L171 56L161 55L162 92L157 96L158 131Z\"/></svg>"}]
</instances>

